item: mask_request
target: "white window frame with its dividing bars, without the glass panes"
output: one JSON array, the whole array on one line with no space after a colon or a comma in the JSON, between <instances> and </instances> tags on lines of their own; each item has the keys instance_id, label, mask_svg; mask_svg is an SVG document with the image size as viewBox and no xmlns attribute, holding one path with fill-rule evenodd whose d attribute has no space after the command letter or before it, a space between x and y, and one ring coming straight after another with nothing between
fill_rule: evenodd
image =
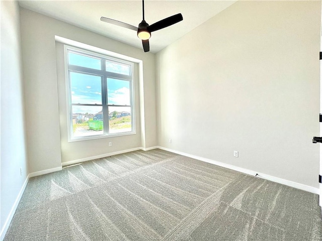
<instances>
[{"instance_id":1,"label":"white window frame with its dividing bars, without the glass panes","mask_svg":"<svg viewBox=\"0 0 322 241\"><path fill-rule=\"evenodd\" d=\"M86 56L94 57L94 58L101 58L102 59L102 70L90 69L82 66L74 66L68 64L68 52L75 52L75 53L83 53ZM108 72L105 70L105 61L115 62L119 64L124 64L130 66L130 75L122 75L113 72ZM134 63L116 58L110 55L101 54L98 52L93 52L90 50L77 48L74 46L64 44L64 64L65 64L65 83L66 83L66 106L67 106L67 132L68 132L68 142L75 142L75 141L85 141L85 140L94 140L94 139L101 139L101 138L110 138L110 137L117 137L117 136L127 136L127 135L134 135L136 134L136 125L135 125L135 91L134 91ZM84 137L74 137L73 136L73 128L72 128L72 104L71 103L71 85L70 85L70 78L69 73L72 72L79 72L79 73L88 73L92 75L100 75L102 76L102 109L104 115L103 121L103 132L104 134L101 135L94 135L94 136L84 136ZM108 89L106 88L106 83L108 78L113 79L121 79L127 80L130 83L130 105L111 105L107 102L108 96ZM88 106L100 106L93 105L93 104L82 104ZM131 131L130 132L122 132L122 133L109 133L109 111L108 107L130 107L131 108Z\"/></svg>"}]
</instances>

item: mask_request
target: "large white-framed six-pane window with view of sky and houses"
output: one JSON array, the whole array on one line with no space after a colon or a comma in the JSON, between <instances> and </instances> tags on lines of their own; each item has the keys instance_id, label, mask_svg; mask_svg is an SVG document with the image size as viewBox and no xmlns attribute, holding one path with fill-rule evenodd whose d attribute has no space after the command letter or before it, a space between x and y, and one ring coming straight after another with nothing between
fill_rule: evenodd
<instances>
[{"instance_id":1,"label":"large white-framed six-pane window with view of sky and houses","mask_svg":"<svg viewBox=\"0 0 322 241\"><path fill-rule=\"evenodd\" d=\"M70 140L135 133L133 63L65 45Z\"/></svg>"}]
</instances>

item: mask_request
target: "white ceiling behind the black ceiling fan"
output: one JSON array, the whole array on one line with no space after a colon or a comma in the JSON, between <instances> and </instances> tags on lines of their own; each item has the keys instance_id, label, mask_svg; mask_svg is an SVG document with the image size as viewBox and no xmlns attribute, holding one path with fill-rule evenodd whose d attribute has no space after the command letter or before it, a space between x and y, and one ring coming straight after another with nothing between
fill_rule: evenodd
<instances>
[{"instance_id":1,"label":"white ceiling behind the black ceiling fan","mask_svg":"<svg viewBox=\"0 0 322 241\"><path fill-rule=\"evenodd\" d=\"M211 19L236 1L144 1L145 21L151 25L181 13L183 21L152 33L150 52L156 53ZM133 26L142 21L141 0L132 1L19 1L23 8L142 49L133 30L100 21L106 17ZM143 51L143 50L142 50Z\"/></svg>"}]
</instances>

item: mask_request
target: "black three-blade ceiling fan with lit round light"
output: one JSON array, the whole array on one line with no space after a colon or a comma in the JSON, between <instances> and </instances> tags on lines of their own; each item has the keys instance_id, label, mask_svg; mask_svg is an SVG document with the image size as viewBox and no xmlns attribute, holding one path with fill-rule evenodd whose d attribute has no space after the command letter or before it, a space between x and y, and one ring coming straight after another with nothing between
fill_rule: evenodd
<instances>
[{"instance_id":1,"label":"black three-blade ceiling fan with lit round light","mask_svg":"<svg viewBox=\"0 0 322 241\"><path fill-rule=\"evenodd\" d=\"M142 12L143 20L138 27L105 17L101 17L101 21L137 31L137 37L142 40L144 52L148 52L150 50L149 38L151 37L151 32L164 29L183 20L182 14L176 14L152 25L148 25L144 20L144 0L142 0Z\"/></svg>"}]
</instances>

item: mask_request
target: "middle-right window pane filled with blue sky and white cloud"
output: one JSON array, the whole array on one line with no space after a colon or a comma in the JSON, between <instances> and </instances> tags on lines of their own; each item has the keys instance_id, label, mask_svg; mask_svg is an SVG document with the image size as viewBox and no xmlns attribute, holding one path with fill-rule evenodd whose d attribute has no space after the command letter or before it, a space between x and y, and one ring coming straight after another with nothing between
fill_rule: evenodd
<instances>
[{"instance_id":1,"label":"middle-right window pane filled with blue sky and white cloud","mask_svg":"<svg viewBox=\"0 0 322 241\"><path fill-rule=\"evenodd\" d=\"M107 79L108 104L130 105L130 82L119 79Z\"/></svg>"}]
</instances>

